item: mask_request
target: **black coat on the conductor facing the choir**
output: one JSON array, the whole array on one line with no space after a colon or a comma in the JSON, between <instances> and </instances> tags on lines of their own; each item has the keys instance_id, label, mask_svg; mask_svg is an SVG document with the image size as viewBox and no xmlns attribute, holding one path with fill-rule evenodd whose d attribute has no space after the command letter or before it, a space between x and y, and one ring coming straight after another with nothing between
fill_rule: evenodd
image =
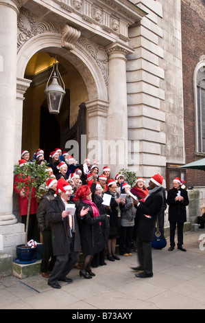
<instances>
[{"instance_id":1,"label":"black coat on the conductor facing the choir","mask_svg":"<svg viewBox=\"0 0 205 323\"><path fill-rule=\"evenodd\" d=\"M151 191L149 191L150 194ZM137 235L141 241L152 241L156 227L156 218L162 210L164 203L162 188L154 188L152 194L147 197L145 202L138 205L138 228ZM145 216L147 215L147 216Z\"/></svg>"}]
</instances>

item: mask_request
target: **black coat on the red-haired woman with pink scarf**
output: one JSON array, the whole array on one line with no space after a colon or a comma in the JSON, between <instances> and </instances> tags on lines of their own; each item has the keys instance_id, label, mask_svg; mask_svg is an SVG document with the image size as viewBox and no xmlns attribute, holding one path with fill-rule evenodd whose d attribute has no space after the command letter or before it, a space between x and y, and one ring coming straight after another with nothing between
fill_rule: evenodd
<instances>
[{"instance_id":1,"label":"black coat on the red-haired woman with pink scarf","mask_svg":"<svg viewBox=\"0 0 205 323\"><path fill-rule=\"evenodd\" d=\"M89 208L89 211L81 218L80 211L83 207L84 209ZM78 219L81 222L80 234L82 252L84 254L96 254L97 252L101 252L105 248L105 241L99 222L106 219L106 214L101 214L94 218L91 206L80 201Z\"/></svg>"}]
</instances>

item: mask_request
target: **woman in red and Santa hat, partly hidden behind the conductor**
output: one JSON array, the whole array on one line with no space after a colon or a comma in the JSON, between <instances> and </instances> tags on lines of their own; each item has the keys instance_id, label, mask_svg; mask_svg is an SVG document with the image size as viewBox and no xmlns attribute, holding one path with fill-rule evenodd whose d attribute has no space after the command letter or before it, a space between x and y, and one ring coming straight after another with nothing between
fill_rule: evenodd
<instances>
[{"instance_id":1,"label":"woman in red and Santa hat, partly hidden behind the conductor","mask_svg":"<svg viewBox=\"0 0 205 323\"><path fill-rule=\"evenodd\" d=\"M145 187L145 179L139 177L136 180L136 184L130 191L133 195L138 198L138 201L143 201L147 196L149 190ZM136 229L138 226L138 216L136 210L136 217L134 218L134 229L133 229L133 236L132 236L132 243L133 243L133 250L136 252Z\"/></svg>"}]
</instances>

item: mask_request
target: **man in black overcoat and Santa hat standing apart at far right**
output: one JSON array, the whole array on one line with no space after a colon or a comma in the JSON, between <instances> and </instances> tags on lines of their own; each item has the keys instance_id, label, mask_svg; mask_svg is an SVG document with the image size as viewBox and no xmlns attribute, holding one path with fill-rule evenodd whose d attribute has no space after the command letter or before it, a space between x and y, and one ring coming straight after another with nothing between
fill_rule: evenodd
<instances>
[{"instance_id":1,"label":"man in black overcoat and Santa hat standing apart at far right","mask_svg":"<svg viewBox=\"0 0 205 323\"><path fill-rule=\"evenodd\" d=\"M186 190L181 187L182 181L179 177L173 179L173 188L167 193L167 204L169 205L169 230L170 230L170 247L173 251L175 247L174 236L176 225L178 227L178 249L186 252L183 245L183 227L186 222L186 205L189 205L189 198Z\"/></svg>"}]
</instances>

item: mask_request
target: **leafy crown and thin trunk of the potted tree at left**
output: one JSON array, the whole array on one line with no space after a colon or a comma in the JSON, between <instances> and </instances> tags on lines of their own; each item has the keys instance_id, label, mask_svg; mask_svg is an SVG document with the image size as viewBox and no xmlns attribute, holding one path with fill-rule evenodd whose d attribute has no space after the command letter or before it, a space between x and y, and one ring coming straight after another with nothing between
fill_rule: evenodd
<instances>
[{"instance_id":1,"label":"leafy crown and thin trunk of the potted tree at left","mask_svg":"<svg viewBox=\"0 0 205 323\"><path fill-rule=\"evenodd\" d=\"M15 165L14 175L17 175L19 179L22 179L20 182L15 182L18 185L16 188L22 190L25 194L25 197L29 200L27 208L27 223L25 229L25 245L27 246L27 231L29 223L29 212L32 199L32 189L36 188L36 197L39 197L40 193L38 192L38 187L45 183L47 177L49 177L48 166L46 164L38 165L36 161L24 164L23 166Z\"/></svg>"}]
</instances>

